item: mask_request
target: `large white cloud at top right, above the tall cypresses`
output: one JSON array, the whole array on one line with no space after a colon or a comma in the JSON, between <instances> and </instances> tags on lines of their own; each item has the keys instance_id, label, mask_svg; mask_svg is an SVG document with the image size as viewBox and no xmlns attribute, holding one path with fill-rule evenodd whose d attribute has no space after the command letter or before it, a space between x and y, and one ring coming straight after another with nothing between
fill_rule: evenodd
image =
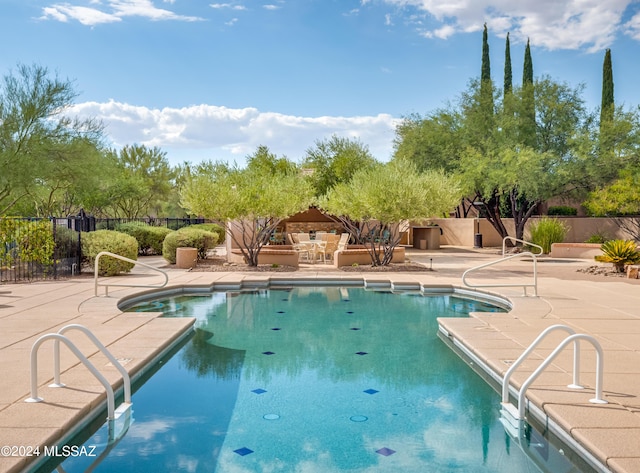
<instances>
[{"instance_id":1,"label":"large white cloud at top right, above the tall cypresses","mask_svg":"<svg viewBox=\"0 0 640 473\"><path fill-rule=\"evenodd\" d=\"M511 32L516 41L538 47L602 50L623 25L625 9L634 0L384 0L426 14L428 23L439 23L422 34L448 38L456 33L479 31L486 22L494 34ZM636 23L640 25L640 21ZM628 25L630 34L638 28ZM635 37L635 36L634 36Z\"/></svg>"}]
</instances>

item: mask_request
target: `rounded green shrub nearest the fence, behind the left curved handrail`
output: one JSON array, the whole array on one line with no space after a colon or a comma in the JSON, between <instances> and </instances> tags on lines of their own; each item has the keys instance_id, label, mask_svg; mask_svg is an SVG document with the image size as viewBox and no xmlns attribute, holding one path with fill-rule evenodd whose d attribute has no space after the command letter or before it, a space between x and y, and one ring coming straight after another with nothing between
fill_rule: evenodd
<instances>
[{"instance_id":1,"label":"rounded green shrub nearest the fence, behind the left curved handrail","mask_svg":"<svg viewBox=\"0 0 640 473\"><path fill-rule=\"evenodd\" d=\"M135 260L138 257L138 242L131 235L115 230L96 230L82 233L82 257L91 267L94 267L96 256L101 251L109 251L125 258ZM98 274L100 276L114 276L127 273L135 265L127 261L103 256L100 258Z\"/></svg>"}]
</instances>

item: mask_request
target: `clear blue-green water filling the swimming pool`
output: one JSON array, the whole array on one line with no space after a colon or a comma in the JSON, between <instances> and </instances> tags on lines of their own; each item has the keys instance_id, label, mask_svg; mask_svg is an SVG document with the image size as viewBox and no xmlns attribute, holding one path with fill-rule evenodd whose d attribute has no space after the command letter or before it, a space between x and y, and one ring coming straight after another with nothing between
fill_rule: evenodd
<instances>
[{"instance_id":1,"label":"clear blue-green water filling the swimming pool","mask_svg":"<svg viewBox=\"0 0 640 473\"><path fill-rule=\"evenodd\" d=\"M436 335L437 317L494 306L297 287L129 310L196 317L197 328L135 392L134 422L94 471L540 471L505 434L498 394ZM548 471L580 471L545 455ZM62 467L86 471L94 460Z\"/></svg>"}]
</instances>

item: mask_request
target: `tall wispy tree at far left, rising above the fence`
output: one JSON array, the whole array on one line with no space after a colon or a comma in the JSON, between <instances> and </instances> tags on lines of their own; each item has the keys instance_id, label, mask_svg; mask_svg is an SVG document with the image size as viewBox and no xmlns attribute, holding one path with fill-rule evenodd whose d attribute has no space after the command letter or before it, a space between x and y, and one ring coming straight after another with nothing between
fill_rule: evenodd
<instances>
[{"instance_id":1,"label":"tall wispy tree at far left, rising above the fence","mask_svg":"<svg viewBox=\"0 0 640 473\"><path fill-rule=\"evenodd\" d=\"M35 211L53 208L73 179L91 168L102 140L102 125L67 112L77 94L69 80L47 68L19 65L0 83L0 215L23 199ZM85 160L87 161L85 163ZM86 169L86 168L83 168ZM40 203L41 205L38 205Z\"/></svg>"}]
</instances>

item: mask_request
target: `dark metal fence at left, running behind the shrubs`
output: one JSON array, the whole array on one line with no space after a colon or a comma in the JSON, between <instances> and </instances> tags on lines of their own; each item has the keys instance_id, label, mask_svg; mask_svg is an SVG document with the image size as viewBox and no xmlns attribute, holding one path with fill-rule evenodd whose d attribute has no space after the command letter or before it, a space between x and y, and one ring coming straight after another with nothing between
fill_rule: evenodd
<instances>
[{"instance_id":1,"label":"dark metal fence at left, running behind the shrubs","mask_svg":"<svg viewBox=\"0 0 640 473\"><path fill-rule=\"evenodd\" d=\"M178 230L205 223L196 218L95 218L80 212L72 217L0 218L0 284L60 279L82 268L81 232L115 230L143 222Z\"/></svg>"}]
</instances>

